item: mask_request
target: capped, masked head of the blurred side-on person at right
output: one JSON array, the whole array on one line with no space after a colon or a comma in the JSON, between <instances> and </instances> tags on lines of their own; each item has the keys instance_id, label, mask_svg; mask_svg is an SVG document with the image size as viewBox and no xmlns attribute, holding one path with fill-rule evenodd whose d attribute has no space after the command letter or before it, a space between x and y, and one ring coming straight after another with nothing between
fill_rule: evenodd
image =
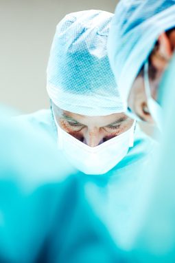
<instances>
[{"instance_id":1,"label":"capped, masked head of the blurred side-on person at right","mask_svg":"<svg viewBox=\"0 0 175 263\"><path fill-rule=\"evenodd\" d=\"M175 1L119 2L108 55L128 116L161 130L161 81L175 48Z\"/></svg>"}]
</instances>

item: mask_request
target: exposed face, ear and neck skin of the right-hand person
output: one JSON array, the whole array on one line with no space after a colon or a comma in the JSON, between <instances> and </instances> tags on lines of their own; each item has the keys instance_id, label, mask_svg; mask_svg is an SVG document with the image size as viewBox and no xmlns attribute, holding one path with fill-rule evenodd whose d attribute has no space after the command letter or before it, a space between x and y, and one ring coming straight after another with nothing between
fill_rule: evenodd
<instances>
[{"instance_id":1,"label":"exposed face, ear and neck skin of the right-hand person","mask_svg":"<svg viewBox=\"0 0 175 263\"><path fill-rule=\"evenodd\" d=\"M159 83L163 72L170 63L175 49L175 29L171 32L163 32L149 57L149 80L152 98L157 101ZM141 120L154 124L154 120L148 108L145 85L143 81L143 69L135 79L128 96L128 107L135 112Z\"/></svg>"}]
</instances>

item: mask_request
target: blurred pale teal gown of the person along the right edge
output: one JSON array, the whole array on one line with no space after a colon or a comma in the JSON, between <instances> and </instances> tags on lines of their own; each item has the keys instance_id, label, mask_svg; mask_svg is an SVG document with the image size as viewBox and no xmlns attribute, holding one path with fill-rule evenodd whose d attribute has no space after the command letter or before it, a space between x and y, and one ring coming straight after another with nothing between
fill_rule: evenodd
<instances>
[{"instance_id":1,"label":"blurred pale teal gown of the person along the right edge","mask_svg":"<svg viewBox=\"0 0 175 263\"><path fill-rule=\"evenodd\" d=\"M132 218L133 262L175 262L175 56L163 76L159 98L163 106L163 136L146 171L137 216Z\"/></svg>"}]
</instances>

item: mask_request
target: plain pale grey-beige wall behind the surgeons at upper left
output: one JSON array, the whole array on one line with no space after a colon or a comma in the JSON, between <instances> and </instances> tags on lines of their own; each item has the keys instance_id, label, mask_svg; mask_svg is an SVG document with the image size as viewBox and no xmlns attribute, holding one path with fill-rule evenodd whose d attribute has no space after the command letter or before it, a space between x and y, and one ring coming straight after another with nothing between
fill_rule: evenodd
<instances>
[{"instance_id":1,"label":"plain pale grey-beige wall behind the surgeons at upper left","mask_svg":"<svg viewBox=\"0 0 175 263\"><path fill-rule=\"evenodd\" d=\"M46 67L56 24L69 12L114 12L117 0L0 0L0 102L34 112L49 106Z\"/></svg>"}]
</instances>

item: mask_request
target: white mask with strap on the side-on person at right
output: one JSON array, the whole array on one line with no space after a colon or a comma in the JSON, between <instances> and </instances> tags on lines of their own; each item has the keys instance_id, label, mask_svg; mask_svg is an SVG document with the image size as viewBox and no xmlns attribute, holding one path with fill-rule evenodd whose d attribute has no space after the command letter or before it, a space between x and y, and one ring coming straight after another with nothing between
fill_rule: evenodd
<instances>
[{"instance_id":1,"label":"white mask with strap on the side-on person at right","mask_svg":"<svg viewBox=\"0 0 175 263\"><path fill-rule=\"evenodd\" d=\"M151 96L150 92L150 81L148 76L148 61L145 62L144 66L144 83L145 83L145 92L148 99L148 108L150 110L150 114L154 121L156 122L159 130L162 130L162 108Z\"/></svg>"}]
</instances>

